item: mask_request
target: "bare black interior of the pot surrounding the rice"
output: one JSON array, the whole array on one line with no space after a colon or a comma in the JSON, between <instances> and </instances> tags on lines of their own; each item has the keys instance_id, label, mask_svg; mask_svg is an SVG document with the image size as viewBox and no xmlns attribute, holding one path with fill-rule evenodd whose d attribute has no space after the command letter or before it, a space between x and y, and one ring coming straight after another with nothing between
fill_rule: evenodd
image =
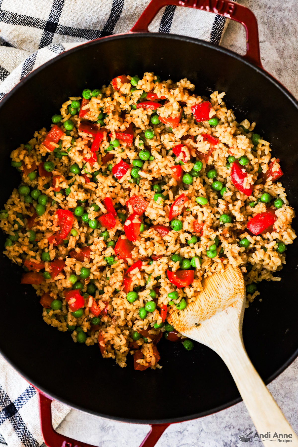
<instances>
[{"instance_id":1,"label":"bare black interior of the pot surrounding the rice","mask_svg":"<svg viewBox=\"0 0 298 447\"><path fill-rule=\"evenodd\" d=\"M4 203L20 177L9 154L32 138L68 96L86 87L101 88L119 74L154 71L162 79L187 77L196 92L225 91L228 107L240 122L256 121L256 131L272 143L281 160L283 186L298 209L298 110L295 101L269 76L241 57L194 39L160 34L105 38L77 47L28 76L0 105L0 202ZM21 116L20 116L21 115ZM296 227L294 223L294 228ZM0 234L0 246L4 245ZM265 382L297 355L297 243L287 250L287 265L263 282L262 298L245 311L243 338L248 355ZM162 340L161 370L134 371L104 360L97 346L72 342L42 320L42 308L31 286L20 285L22 269L0 256L2 323L0 349L31 383L50 396L90 413L124 420L182 420L212 413L239 400L239 393L222 360L196 344L188 352ZM12 283L14 286L12 287Z\"/></svg>"}]
</instances>

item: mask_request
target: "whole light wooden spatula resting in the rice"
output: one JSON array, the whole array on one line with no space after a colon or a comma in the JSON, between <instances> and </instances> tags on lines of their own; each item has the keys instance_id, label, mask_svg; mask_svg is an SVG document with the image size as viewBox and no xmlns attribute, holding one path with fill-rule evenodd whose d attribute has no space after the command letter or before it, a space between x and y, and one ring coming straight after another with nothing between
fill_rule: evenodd
<instances>
[{"instance_id":1,"label":"whole light wooden spatula resting in the rice","mask_svg":"<svg viewBox=\"0 0 298 447\"><path fill-rule=\"evenodd\" d=\"M209 346L226 363L257 432L292 434L298 437L253 367L245 351L242 322L246 300L243 275L238 267L227 264L224 272L203 279L204 290L197 300L168 317L174 328L197 342ZM273 440L273 439L272 439Z\"/></svg>"}]
</instances>

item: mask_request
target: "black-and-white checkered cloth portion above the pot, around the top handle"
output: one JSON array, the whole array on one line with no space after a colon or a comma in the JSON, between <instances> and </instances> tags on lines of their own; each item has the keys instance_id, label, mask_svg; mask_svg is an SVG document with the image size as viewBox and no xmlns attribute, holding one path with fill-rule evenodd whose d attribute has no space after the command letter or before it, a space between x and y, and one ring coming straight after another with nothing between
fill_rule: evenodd
<instances>
[{"instance_id":1,"label":"black-and-white checkered cloth portion above the pot, around the top handle","mask_svg":"<svg viewBox=\"0 0 298 447\"><path fill-rule=\"evenodd\" d=\"M129 31L150 0L0 0L0 100L35 68L88 40ZM149 30L219 44L227 23L167 6Z\"/></svg>"}]
</instances>

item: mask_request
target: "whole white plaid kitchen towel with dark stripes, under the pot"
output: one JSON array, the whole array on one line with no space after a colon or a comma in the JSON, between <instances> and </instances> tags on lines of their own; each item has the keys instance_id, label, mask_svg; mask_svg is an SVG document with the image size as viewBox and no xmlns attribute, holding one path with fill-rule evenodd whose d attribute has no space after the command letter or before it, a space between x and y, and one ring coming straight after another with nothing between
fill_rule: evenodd
<instances>
[{"instance_id":1,"label":"whole white plaid kitchen towel with dark stripes, under the pot","mask_svg":"<svg viewBox=\"0 0 298 447\"><path fill-rule=\"evenodd\" d=\"M32 70L92 39L129 31L150 0L0 0L0 100ZM224 17L167 6L151 32L182 34L219 44ZM55 403L57 427L69 408ZM38 396L0 356L0 446L42 444Z\"/></svg>"}]
</instances>

